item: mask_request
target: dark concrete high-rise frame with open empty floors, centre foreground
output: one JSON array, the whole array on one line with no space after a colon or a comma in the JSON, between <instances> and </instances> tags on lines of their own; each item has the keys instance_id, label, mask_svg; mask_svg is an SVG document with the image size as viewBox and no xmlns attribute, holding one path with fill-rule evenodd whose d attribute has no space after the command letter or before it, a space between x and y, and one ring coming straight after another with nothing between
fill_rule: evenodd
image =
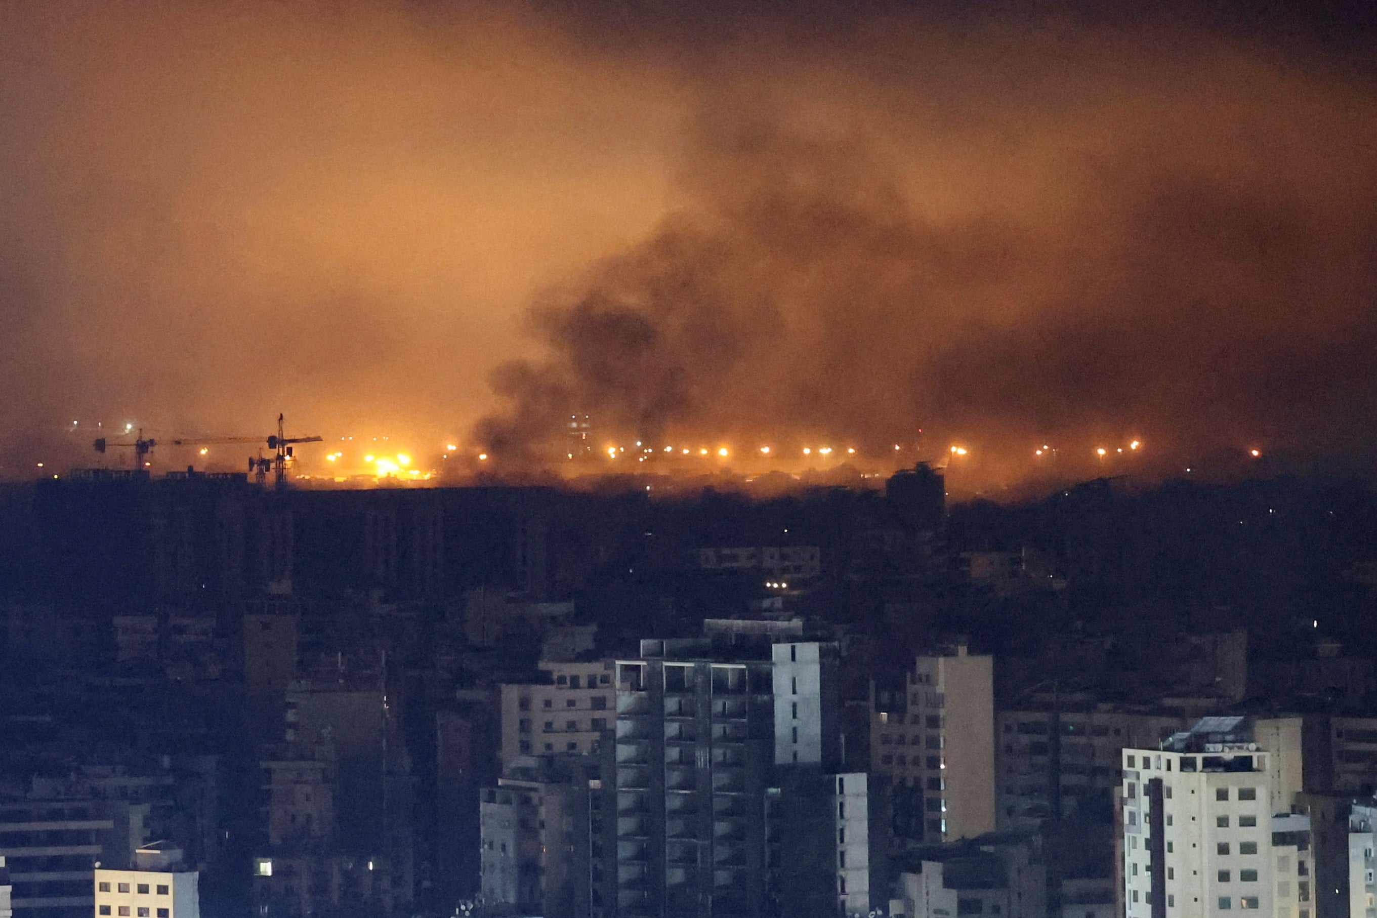
<instances>
[{"instance_id":1,"label":"dark concrete high-rise frame with open empty floors, centre foreground","mask_svg":"<svg viewBox=\"0 0 1377 918\"><path fill-rule=\"evenodd\" d=\"M643 640L617 661L616 870L595 915L766 914L772 665L768 648L728 650Z\"/></svg>"}]
</instances>

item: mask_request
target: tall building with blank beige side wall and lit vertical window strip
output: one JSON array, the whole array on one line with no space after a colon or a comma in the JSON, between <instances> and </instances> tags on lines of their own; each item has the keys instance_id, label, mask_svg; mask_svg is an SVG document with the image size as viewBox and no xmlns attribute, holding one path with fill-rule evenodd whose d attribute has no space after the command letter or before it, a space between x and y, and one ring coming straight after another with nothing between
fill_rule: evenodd
<instances>
[{"instance_id":1,"label":"tall building with blank beige side wall and lit vertical window strip","mask_svg":"<svg viewBox=\"0 0 1377 918\"><path fill-rule=\"evenodd\" d=\"M920 657L902 691L874 691L870 771L894 783L906 834L956 841L994 831L994 661L960 644Z\"/></svg>"}]
</instances>

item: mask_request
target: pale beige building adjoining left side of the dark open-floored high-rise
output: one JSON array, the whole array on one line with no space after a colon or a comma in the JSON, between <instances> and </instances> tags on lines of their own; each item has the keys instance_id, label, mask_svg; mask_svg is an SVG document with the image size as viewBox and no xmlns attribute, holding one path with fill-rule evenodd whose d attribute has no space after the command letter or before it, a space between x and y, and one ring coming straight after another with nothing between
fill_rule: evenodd
<instances>
[{"instance_id":1,"label":"pale beige building adjoining left side of the dark open-floored high-rise","mask_svg":"<svg viewBox=\"0 0 1377 918\"><path fill-rule=\"evenodd\" d=\"M503 768L521 756L598 751L616 717L613 669L611 661L543 662L548 681L503 685Z\"/></svg>"}]
</instances>

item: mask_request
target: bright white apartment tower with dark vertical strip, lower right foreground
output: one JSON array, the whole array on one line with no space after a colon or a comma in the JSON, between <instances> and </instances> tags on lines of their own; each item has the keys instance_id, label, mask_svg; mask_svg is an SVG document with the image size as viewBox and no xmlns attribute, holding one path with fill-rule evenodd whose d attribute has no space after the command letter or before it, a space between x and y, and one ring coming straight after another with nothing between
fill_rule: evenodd
<instances>
[{"instance_id":1,"label":"bright white apartment tower with dark vertical strip, lower right foreground","mask_svg":"<svg viewBox=\"0 0 1377 918\"><path fill-rule=\"evenodd\" d=\"M1122 756L1126 918L1311 918L1310 822L1271 812L1271 753L1246 718Z\"/></svg>"}]
</instances>

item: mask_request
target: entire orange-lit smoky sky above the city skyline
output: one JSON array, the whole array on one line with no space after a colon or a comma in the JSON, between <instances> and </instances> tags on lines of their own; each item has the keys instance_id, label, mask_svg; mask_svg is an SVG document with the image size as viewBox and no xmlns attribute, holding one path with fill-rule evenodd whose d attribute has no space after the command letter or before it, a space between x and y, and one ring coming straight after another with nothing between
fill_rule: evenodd
<instances>
[{"instance_id":1,"label":"entire orange-lit smoky sky above the city skyline","mask_svg":"<svg viewBox=\"0 0 1377 918\"><path fill-rule=\"evenodd\" d=\"M4 7L0 464L67 416L278 410L486 413L465 447L512 465L574 412L921 427L1005 478L1033 440L1360 439L1369 73L1165 18L810 10Z\"/></svg>"}]
</instances>

